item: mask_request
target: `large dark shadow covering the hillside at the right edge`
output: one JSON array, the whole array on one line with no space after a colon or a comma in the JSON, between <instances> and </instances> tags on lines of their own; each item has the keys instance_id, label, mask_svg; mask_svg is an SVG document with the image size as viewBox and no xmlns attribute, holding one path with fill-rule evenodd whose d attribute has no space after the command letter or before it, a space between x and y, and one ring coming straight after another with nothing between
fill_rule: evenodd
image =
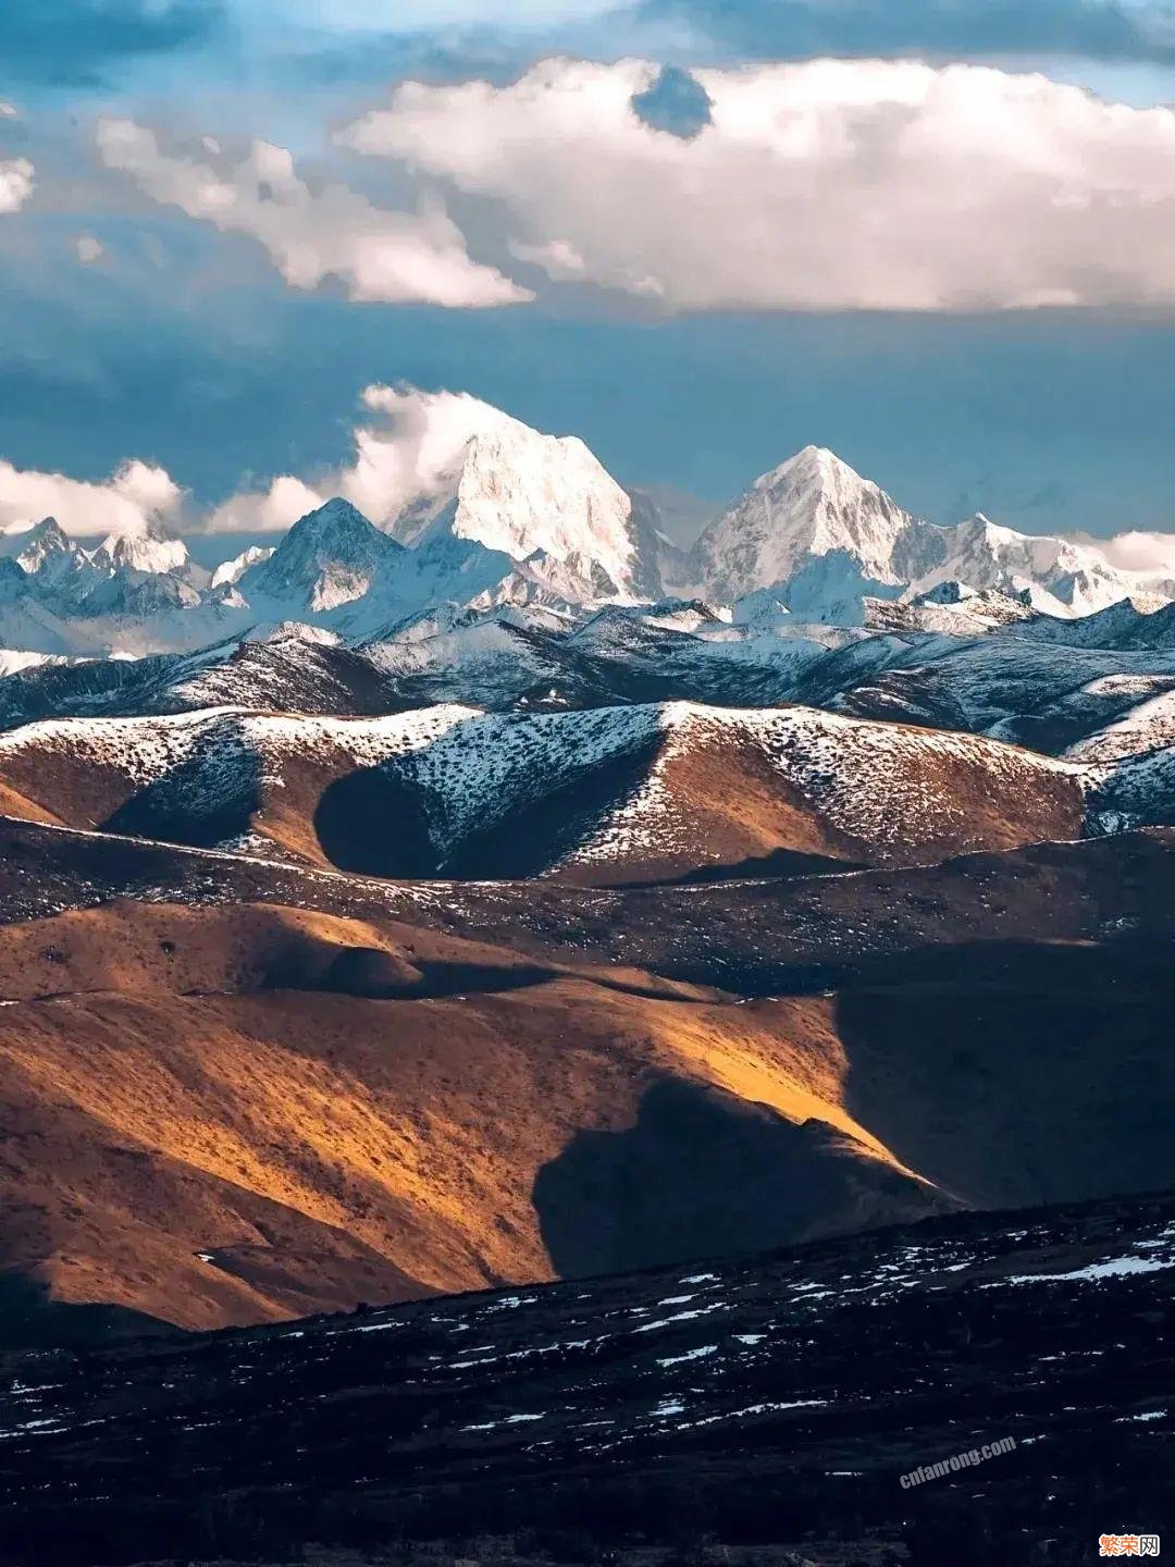
<instances>
[{"instance_id":1,"label":"large dark shadow covering the hillside at the right edge","mask_svg":"<svg viewBox=\"0 0 1175 1567\"><path fill-rule=\"evenodd\" d=\"M976 942L871 965L837 998L844 1106L982 1208L1175 1182L1162 943Z\"/></svg>"}]
</instances>

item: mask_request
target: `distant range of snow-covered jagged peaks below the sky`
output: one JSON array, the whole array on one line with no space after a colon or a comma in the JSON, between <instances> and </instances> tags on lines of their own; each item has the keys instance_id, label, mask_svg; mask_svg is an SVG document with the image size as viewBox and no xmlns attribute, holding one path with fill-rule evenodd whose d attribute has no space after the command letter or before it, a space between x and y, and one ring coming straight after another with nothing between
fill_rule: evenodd
<instances>
[{"instance_id":1,"label":"distant range of snow-covered jagged peaks below the sky","mask_svg":"<svg viewBox=\"0 0 1175 1567\"><path fill-rule=\"evenodd\" d=\"M818 447L755 480L685 552L653 500L627 492L583 442L504 414L379 528L340 497L276 545L204 572L160 528L91 550L45 519L5 534L0 563L0 642L55 655L196 649L284 621L354 641L437 606L567 613L667 594L760 627L863 625L887 603L901 624L909 605L924 621L937 605L948 630L953 605L992 608L992 594L1056 617L1175 597L1175 581L1122 570L1094 545L982 516L923 522Z\"/></svg>"}]
</instances>

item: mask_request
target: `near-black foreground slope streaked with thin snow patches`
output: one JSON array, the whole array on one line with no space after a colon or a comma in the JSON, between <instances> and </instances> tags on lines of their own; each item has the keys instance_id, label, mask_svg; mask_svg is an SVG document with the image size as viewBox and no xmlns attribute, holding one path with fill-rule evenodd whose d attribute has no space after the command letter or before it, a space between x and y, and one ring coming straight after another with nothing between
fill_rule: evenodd
<instances>
[{"instance_id":1,"label":"near-black foreground slope streaked with thin snow patches","mask_svg":"<svg viewBox=\"0 0 1175 1567\"><path fill-rule=\"evenodd\" d=\"M1172 1279L1167 1194L9 1355L0 1561L1086 1562L1170 1523Z\"/></svg>"}]
</instances>

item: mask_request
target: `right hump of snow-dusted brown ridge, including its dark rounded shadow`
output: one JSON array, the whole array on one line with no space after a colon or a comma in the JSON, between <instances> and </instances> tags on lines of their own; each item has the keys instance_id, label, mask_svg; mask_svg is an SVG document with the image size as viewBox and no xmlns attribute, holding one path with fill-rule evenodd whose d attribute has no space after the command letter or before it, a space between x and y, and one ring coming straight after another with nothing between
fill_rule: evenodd
<instances>
[{"instance_id":1,"label":"right hump of snow-dusted brown ridge, including its dark rounded shadow","mask_svg":"<svg viewBox=\"0 0 1175 1567\"><path fill-rule=\"evenodd\" d=\"M622 718L624 744L575 752L577 724L583 732L609 719L619 730ZM489 788L478 771L495 746L526 762ZM530 732L519 722L487 736L462 726L436 749L442 760L423 787L410 762L393 762L326 790L315 827L334 865L602 887L716 870L804 873L821 862L926 865L1076 838L1086 813L1076 769L1028 751L802 708L569 713ZM470 810L470 796L483 809ZM414 818L418 831L406 831Z\"/></svg>"}]
</instances>

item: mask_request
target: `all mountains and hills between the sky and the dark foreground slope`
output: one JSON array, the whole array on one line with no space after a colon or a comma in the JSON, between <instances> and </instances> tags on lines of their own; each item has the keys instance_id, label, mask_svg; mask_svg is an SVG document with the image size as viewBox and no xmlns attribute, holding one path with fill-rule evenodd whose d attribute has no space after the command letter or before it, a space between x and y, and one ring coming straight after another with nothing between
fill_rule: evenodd
<instances>
[{"instance_id":1,"label":"all mountains and hills between the sky and the dark foreground slope","mask_svg":"<svg viewBox=\"0 0 1175 1567\"><path fill-rule=\"evenodd\" d=\"M1170 583L813 447L692 552L504 415L343 487L5 537L0 1348L1170 1185Z\"/></svg>"}]
</instances>

